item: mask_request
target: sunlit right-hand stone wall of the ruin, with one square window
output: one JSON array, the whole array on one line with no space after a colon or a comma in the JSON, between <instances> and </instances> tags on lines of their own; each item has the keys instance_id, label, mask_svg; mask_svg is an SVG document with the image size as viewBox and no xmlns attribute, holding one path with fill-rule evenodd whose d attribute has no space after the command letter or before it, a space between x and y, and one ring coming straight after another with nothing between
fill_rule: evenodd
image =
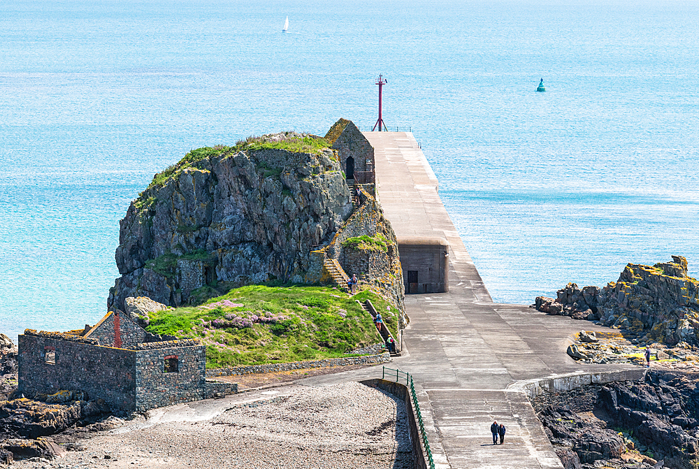
<instances>
[{"instance_id":1,"label":"sunlit right-hand stone wall of the ruin, with one square window","mask_svg":"<svg viewBox=\"0 0 699 469\"><path fill-rule=\"evenodd\" d=\"M166 360L177 370L166 372ZM206 394L206 347L164 347L136 351L136 410L199 401Z\"/></svg>"}]
</instances>

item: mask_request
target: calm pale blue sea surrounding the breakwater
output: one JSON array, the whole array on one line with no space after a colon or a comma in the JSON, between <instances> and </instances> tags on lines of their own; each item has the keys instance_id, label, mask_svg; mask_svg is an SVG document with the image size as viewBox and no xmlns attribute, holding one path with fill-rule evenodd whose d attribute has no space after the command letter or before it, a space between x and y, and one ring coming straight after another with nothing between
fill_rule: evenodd
<instances>
[{"instance_id":1,"label":"calm pale blue sea surrounding the breakwater","mask_svg":"<svg viewBox=\"0 0 699 469\"><path fill-rule=\"evenodd\" d=\"M699 275L699 2L14 0L0 15L0 331L82 329L119 222L191 149L412 131L493 300ZM282 33L284 18L289 31ZM535 92L540 78L546 92Z\"/></svg>"}]
</instances>

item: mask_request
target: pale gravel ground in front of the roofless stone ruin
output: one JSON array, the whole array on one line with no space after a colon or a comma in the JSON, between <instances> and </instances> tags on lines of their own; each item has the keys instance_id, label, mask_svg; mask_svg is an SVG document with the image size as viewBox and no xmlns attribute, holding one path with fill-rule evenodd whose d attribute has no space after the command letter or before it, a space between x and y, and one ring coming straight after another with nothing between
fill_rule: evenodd
<instances>
[{"instance_id":1,"label":"pale gravel ground in front of the roofless stone ruin","mask_svg":"<svg viewBox=\"0 0 699 469\"><path fill-rule=\"evenodd\" d=\"M285 386L167 407L75 446L82 451L11 467L412 467L405 404L357 382Z\"/></svg>"}]
</instances>

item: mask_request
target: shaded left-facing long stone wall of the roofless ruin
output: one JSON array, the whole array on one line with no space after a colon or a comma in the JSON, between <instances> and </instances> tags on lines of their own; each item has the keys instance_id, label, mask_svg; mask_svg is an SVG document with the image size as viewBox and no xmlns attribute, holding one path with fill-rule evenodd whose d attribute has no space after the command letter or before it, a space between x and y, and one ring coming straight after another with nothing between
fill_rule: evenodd
<instances>
[{"instance_id":1,"label":"shaded left-facing long stone wall of the roofless ruin","mask_svg":"<svg viewBox=\"0 0 699 469\"><path fill-rule=\"evenodd\" d=\"M19 389L27 395L62 389L103 398L112 410L136 410L136 352L31 335L18 337ZM46 352L55 352L47 363Z\"/></svg>"}]
</instances>

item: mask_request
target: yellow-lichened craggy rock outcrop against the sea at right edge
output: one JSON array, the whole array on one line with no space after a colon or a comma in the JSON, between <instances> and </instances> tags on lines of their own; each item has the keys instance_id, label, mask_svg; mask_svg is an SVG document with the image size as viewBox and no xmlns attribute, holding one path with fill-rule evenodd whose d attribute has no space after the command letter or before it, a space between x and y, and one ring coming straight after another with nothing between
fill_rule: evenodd
<instances>
[{"instance_id":1,"label":"yellow-lichened craggy rock outcrop against the sea at right edge","mask_svg":"<svg viewBox=\"0 0 699 469\"><path fill-rule=\"evenodd\" d=\"M628 264L606 287L569 283L557 298L539 296L533 305L551 315L598 320L667 345L699 345L699 281L687 275L687 261Z\"/></svg>"}]
</instances>

